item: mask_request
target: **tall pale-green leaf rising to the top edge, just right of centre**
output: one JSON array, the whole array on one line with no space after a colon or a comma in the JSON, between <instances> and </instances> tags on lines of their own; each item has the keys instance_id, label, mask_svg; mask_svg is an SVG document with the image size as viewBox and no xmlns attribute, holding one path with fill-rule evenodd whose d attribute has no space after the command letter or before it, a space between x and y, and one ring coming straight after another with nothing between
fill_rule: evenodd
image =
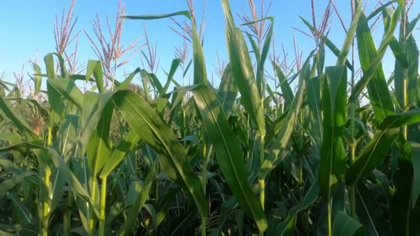
<instances>
[{"instance_id":1,"label":"tall pale-green leaf rising to the top edge, just right of centre","mask_svg":"<svg viewBox=\"0 0 420 236\"><path fill-rule=\"evenodd\" d=\"M251 57L249 56L245 39L233 21L229 1L222 0L222 7L226 21L229 62L233 71L233 77L240 91L240 101L245 110L251 115L251 119L257 125L261 136L265 137L265 119L261 103L262 95L258 91Z\"/></svg>"}]
</instances>

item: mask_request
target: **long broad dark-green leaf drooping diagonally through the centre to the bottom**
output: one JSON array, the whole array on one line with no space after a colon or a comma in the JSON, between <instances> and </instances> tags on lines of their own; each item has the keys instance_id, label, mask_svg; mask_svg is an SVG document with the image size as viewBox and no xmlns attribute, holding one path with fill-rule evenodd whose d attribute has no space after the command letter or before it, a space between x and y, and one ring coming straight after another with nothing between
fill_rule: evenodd
<instances>
[{"instance_id":1,"label":"long broad dark-green leaf drooping diagonally through the centre to the bottom","mask_svg":"<svg viewBox=\"0 0 420 236\"><path fill-rule=\"evenodd\" d=\"M205 133L215 146L218 164L229 188L245 213L254 218L260 232L264 232L267 219L258 198L249 187L238 139L229 128L217 96L207 86L196 87L193 94L202 115Z\"/></svg>"}]
</instances>

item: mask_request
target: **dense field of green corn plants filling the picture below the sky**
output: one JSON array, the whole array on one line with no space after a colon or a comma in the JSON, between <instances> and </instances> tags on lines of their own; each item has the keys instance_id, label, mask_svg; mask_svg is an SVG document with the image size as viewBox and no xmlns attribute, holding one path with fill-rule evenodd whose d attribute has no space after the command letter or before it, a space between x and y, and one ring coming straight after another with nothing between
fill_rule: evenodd
<instances>
[{"instance_id":1,"label":"dense field of green corn plants filling the picture below the sky","mask_svg":"<svg viewBox=\"0 0 420 236\"><path fill-rule=\"evenodd\" d=\"M316 46L289 70L269 57L280 22L240 25L221 3L218 85L191 10L121 12L189 23L192 59L173 59L167 77L149 61L122 78L103 58L78 72L57 48L33 63L31 92L46 99L0 81L0 235L420 235L420 14L409 19L404 0L372 12L354 0L341 47L327 19L302 18ZM260 37L241 30L262 21ZM180 68L191 84L177 82Z\"/></svg>"}]
</instances>

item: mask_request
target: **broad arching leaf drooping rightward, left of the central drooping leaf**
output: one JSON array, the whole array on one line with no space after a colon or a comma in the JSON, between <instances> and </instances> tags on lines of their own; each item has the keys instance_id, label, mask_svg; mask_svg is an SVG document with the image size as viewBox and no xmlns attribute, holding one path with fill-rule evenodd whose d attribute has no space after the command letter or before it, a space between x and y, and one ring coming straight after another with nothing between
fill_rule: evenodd
<instances>
[{"instance_id":1,"label":"broad arching leaf drooping rightward, left of the central drooping leaf","mask_svg":"<svg viewBox=\"0 0 420 236\"><path fill-rule=\"evenodd\" d=\"M200 215L206 217L207 199L200 180L194 175L185 150L178 143L171 128L166 126L159 115L146 104L146 101L134 92L124 90L115 92L113 103L141 139L158 153L165 154L158 157L166 175L182 184L193 197Z\"/></svg>"}]
</instances>

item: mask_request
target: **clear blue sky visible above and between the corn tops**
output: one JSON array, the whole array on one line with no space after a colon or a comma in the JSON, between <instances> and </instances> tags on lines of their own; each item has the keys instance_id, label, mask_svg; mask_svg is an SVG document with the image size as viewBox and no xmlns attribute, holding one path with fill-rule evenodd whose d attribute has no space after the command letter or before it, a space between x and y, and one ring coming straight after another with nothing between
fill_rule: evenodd
<instances>
[{"instance_id":1,"label":"clear blue sky visible above and between the corn tops","mask_svg":"<svg viewBox=\"0 0 420 236\"><path fill-rule=\"evenodd\" d=\"M195 1L195 8L200 13L203 0ZM260 1L255 0L257 6ZM266 0L268 3L269 0ZM327 0L316 0L316 17L318 22L321 21L323 9L327 5ZM369 1L373 2L373 1ZM126 14L151 14L151 13L166 13L178 10L186 10L187 3L183 0L125 0ZM38 54L38 61L41 68L44 69L42 58L48 52L55 50L54 35L53 35L53 21L55 19L55 12L61 14L63 8L68 8L70 0L39 0L39 1L0 1L0 74L6 71L7 79L13 81L12 72L20 71L23 63L26 65L26 70L30 70L28 59L35 58ZM346 25L350 23L350 0L336 0L338 10L343 14ZM369 3L367 12L373 8L373 3ZM416 3L412 12L418 14L420 12L419 3ZM242 12L242 10L249 11L247 1L245 0L231 0L233 11ZM87 30L92 32L90 27L90 20L95 17L98 12L100 17L105 17L106 14L111 18L115 17L117 11L117 0L79 0L75 6L75 16L77 17L77 25L75 32L78 30ZM305 19L311 19L310 0L274 0L271 6L271 16L275 17L275 37L276 48L280 51L280 43L283 42L287 48L290 57L293 55L293 37L296 35L296 41L303 50L304 55L307 55L313 48L312 39L309 39L300 32L292 30L292 26L307 31L303 23L298 18L299 15ZM207 61L207 68L209 77L213 71L213 63L216 63L216 50L220 53L222 60L227 60L224 27L225 22L222 15L222 7L220 1L208 0L206 15L209 19L207 27L204 32L204 55ZM344 32L341 25L333 14L332 29L330 39L341 47L344 39ZM171 60L174 58L173 52L175 46L182 43L181 38L172 32L168 26L173 25L169 19L161 19L157 21L131 21L124 22L123 29L123 43L128 43L143 33L143 22L146 22L146 27L149 31L149 38L151 42L158 43L158 57L160 57L160 67L164 70L169 70ZM236 20L236 23L241 23ZM104 24L105 26L105 24ZM381 39L381 26L376 33L376 43ZM418 36L416 30L416 36ZM139 43L144 43L144 39L140 39ZM376 44L377 46L378 44ZM305 57L305 56L304 56ZM96 59L93 51L90 49L90 43L86 36L82 33L79 39L79 62L86 62L88 59ZM389 57L391 58L391 57ZM334 63L335 58L329 57L327 59L327 66ZM393 59L385 59L385 73L392 71ZM136 67L142 67L140 63L140 54L135 55L131 59L131 63L125 66L126 72L131 72ZM160 69L158 75L162 75ZM162 79L164 80L164 79Z\"/></svg>"}]
</instances>

